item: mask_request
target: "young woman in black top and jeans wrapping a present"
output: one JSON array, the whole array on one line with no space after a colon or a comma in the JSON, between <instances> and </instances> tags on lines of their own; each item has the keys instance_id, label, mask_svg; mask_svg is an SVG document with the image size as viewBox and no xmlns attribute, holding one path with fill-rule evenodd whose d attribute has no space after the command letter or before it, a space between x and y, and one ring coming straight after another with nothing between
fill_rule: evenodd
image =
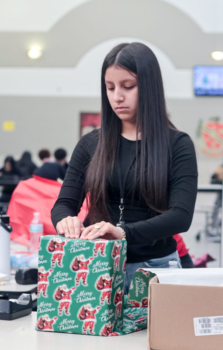
<instances>
[{"instance_id":1,"label":"young woman in black top and jeans wrapping a present","mask_svg":"<svg viewBox=\"0 0 223 350\"><path fill-rule=\"evenodd\" d=\"M126 238L127 293L137 268L169 260L181 267L173 235L192 222L196 156L190 137L168 119L159 64L146 45L109 52L101 94L101 129L75 147L51 218L65 237ZM87 194L82 223L77 214Z\"/></svg>"}]
</instances>

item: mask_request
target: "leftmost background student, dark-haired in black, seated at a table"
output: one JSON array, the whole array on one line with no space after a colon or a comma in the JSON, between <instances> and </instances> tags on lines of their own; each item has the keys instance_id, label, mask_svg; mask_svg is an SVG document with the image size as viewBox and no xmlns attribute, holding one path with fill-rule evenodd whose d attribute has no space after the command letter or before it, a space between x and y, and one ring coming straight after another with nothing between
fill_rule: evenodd
<instances>
[{"instance_id":1,"label":"leftmost background student, dark-haired in black, seated at a table","mask_svg":"<svg viewBox=\"0 0 223 350\"><path fill-rule=\"evenodd\" d=\"M0 169L0 179L4 180L19 180L22 176L19 169L16 168L13 157L8 156L4 161L3 168ZM12 193L16 185L5 185L3 186L0 202L8 203L12 196Z\"/></svg>"}]
</instances>

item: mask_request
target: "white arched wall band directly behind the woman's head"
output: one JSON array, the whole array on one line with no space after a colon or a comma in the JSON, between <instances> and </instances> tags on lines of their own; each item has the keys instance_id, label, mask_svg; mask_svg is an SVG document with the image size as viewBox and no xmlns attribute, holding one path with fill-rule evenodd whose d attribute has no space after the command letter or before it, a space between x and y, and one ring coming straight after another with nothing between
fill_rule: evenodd
<instances>
[{"instance_id":1,"label":"white arched wall band directly behind the woman's head","mask_svg":"<svg viewBox=\"0 0 223 350\"><path fill-rule=\"evenodd\" d=\"M107 53L120 42L138 41L156 55L167 98L192 98L192 69L175 68L170 58L151 42L137 37L108 39L88 50L75 67L0 67L0 96L101 96L101 67Z\"/></svg>"}]
</instances>

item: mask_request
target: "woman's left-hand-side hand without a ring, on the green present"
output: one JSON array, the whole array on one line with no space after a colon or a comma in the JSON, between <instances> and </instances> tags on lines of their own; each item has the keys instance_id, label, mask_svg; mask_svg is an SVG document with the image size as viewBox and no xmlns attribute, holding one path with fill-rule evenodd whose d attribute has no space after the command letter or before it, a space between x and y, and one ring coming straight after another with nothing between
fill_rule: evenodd
<instances>
[{"instance_id":1,"label":"woman's left-hand-side hand without a ring, on the green present","mask_svg":"<svg viewBox=\"0 0 223 350\"><path fill-rule=\"evenodd\" d=\"M79 238L85 227L77 216L67 216L57 223L58 235L66 238Z\"/></svg>"}]
</instances>

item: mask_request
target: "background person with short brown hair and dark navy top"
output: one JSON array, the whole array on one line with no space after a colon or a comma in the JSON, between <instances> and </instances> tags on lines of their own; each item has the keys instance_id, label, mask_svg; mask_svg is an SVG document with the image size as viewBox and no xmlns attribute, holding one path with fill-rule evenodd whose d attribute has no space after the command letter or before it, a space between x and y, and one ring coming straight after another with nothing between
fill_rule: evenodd
<instances>
[{"instance_id":1,"label":"background person with short brown hair and dark navy top","mask_svg":"<svg viewBox=\"0 0 223 350\"><path fill-rule=\"evenodd\" d=\"M39 151L39 158L43 165L34 171L35 175L55 181L57 179L64 180L66 169L59 163L50 162L50 152L47 149Z\"/></svg>"}]
</instances>

